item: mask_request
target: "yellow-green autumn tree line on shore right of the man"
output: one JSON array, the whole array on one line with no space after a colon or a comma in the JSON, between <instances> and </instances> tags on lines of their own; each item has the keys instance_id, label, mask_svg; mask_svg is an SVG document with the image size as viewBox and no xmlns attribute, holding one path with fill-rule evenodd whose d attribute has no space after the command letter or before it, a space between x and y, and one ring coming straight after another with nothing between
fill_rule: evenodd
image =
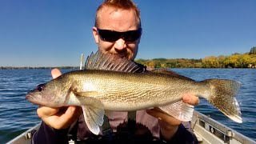
<instances>
[{"instance_id":1,"label":"yellow-green autumn tree line on shore right of the man","mask_svg":"<svg viewBox=\"0 0 256 144\"><path fill-rule=\"evenodd\" d=\"M256 46L245 54L231 54L228 56L209 56L200 59L189 58L154 58L136 59L135 62L152 68L255 68Z\"/></svg>"}]
</instances>

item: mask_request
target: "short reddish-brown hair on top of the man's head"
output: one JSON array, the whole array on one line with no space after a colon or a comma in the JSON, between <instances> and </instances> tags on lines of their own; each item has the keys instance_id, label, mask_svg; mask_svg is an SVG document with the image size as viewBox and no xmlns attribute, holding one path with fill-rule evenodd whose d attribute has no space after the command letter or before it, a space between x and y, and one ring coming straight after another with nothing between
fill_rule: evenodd
<instances>
[{"instance_id":1,"label":"short reddish-brown hair on top of the man's head","mask_svg":"<svg viewBox=\"0 0 256 144\"><path fill-rule=\"evenodd\" d=\"M102 2L102 4L98 6L98 9L96 11L94 26L98 27L98 12L106 6L122 10L134 10L138 20L138 27L140 28L142 26L140 11L132 0L105 0L104 2Z\"/></svg>"}]
</instances>

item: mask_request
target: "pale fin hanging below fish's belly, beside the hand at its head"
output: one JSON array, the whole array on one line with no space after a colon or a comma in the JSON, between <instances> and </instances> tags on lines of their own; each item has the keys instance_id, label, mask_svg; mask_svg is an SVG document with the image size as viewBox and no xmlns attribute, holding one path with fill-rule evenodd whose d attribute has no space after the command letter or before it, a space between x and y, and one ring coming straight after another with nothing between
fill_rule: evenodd
<instances>
[{"instance_id":1,"label":"pale fin hanging below fish's belly, beside the hand at its head","mask_svg":"<svg viewBox=\"0 0 256 144\"><path fill-rule=\"evenodd\" d=\"M89 130L98 135L99 126L102 126L104 122L104 110L93 106L82 106L82 112Z\"/></svg>"}]
</instances>

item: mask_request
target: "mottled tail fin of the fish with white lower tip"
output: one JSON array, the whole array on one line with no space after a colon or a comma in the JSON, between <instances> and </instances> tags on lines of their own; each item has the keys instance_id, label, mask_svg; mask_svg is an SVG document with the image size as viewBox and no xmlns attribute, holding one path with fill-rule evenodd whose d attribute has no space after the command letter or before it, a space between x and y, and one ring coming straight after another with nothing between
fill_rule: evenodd
<instances>
[{"instance_id":1,"label":"mottled tail fin of the fish with white lower tip","mask_svg":"<svg viewBox=\"0 0 256 144\"><path fill-rule=\"evenodd\" d=\"M242 123L240 107L234 98L241 83L224 79L207 79L203 82L210 84L211 95L208 101L234 122Z\"/></svg>"}]
</instances>

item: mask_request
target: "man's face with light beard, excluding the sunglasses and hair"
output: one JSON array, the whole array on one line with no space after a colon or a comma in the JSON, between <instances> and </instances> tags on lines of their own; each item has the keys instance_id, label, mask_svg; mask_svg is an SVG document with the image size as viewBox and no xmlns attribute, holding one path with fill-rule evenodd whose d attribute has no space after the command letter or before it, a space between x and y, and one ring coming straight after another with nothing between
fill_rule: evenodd
<instances>
[{"instance_id":1,"label":"man's face with light beard, excluding the sunglasses and hair","mask_svg":"<svg viewBox=\"0 0 256 144\"><path fill-rule=\"evenodd\" d=\"M126 32L138 30L138 26L138 19L133 10L117 10L111 7L104 7L98 12L98 29ZM100 37L96 27L93 28L93 33L98 49L103 53L110 52L111 54L118 54L120 57L134 60L138 52L140 38L134 42L126 42L123 38L119 38L115 42L107 42Z\"/></svg>"}]
</instances>

